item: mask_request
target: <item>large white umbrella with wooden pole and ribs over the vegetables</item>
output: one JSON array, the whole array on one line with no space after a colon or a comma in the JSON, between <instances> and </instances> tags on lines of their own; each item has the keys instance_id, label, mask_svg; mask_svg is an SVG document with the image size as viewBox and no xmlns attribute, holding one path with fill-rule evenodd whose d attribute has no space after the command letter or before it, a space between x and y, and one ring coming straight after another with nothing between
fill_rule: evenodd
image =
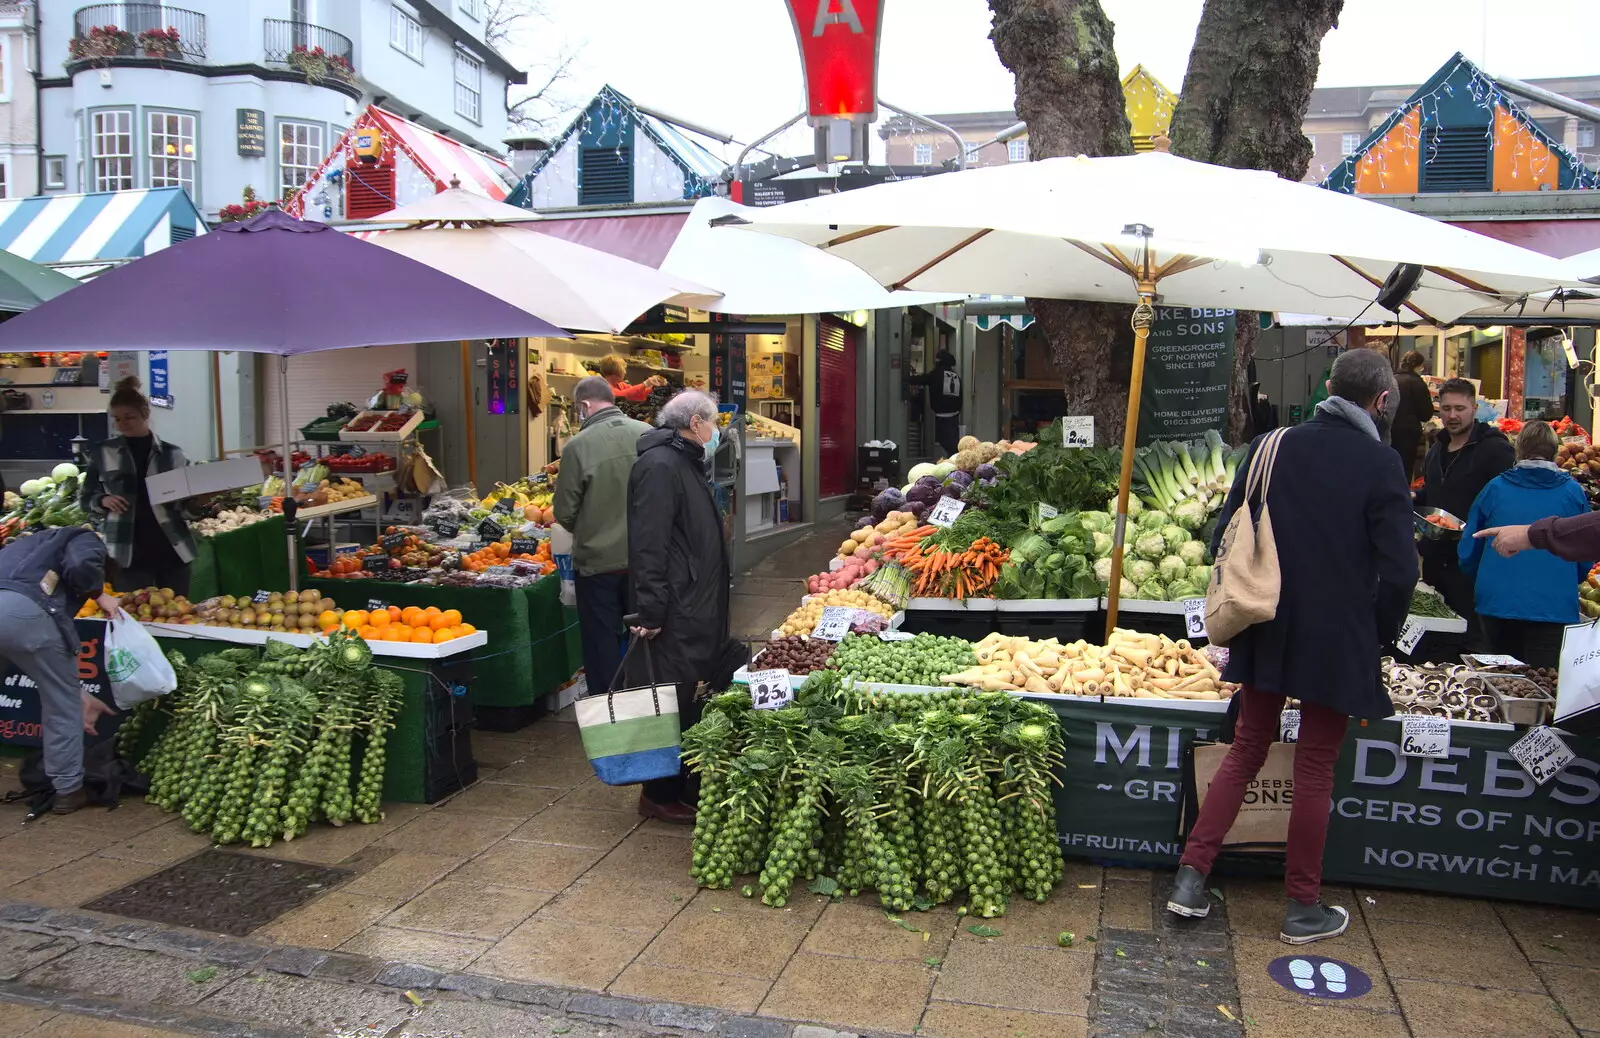
<instances>
[{"instance_id":1,"label":"large white umbrella with wooden pole and ribs over the vegetables","mask_svg":"<svg viewBox=\"0 0 1600 1038\"><path fill-rule=\"evenodd\" d=\"M1558 259L1274 173L1162 150L1045 158L880 184L722 221L805 242L888 288L1134 302L1134 358L1112 573L1122 573L1144 350L1162 302L1366 309L1418 264L1403 310L1432 325L1578 281ZM1120 587L1109 587L1107 630Z\"/></svg>"}]
</instances>

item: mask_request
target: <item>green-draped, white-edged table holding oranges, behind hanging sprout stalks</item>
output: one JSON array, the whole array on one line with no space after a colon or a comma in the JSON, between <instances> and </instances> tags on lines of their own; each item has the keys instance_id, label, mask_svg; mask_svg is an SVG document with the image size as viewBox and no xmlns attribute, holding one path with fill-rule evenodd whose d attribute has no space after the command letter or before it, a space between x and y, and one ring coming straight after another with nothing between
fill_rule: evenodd
<instances>
[{"instance_id":1,"label":"green-draped, white-edged table holding oranges, behind hanging sprout stalks","mask_svg":"<svg viewBox=\"0 0 1600 1038\"><path fill-rule=\"evenodd\" d=\"M147 627L163 649L176 649L189 659L216 653L224 645L264 645L267 638L291 645L312 641L310 635L230 627ZM386 741L384 800L435 803L477 782L478 765L472 757L472 694L477 688L472 654L486 641L483 632L474 632L443 645L368 643L373 665L392 670L405 681L405 699Z\"/></svg>"}]
</instances>

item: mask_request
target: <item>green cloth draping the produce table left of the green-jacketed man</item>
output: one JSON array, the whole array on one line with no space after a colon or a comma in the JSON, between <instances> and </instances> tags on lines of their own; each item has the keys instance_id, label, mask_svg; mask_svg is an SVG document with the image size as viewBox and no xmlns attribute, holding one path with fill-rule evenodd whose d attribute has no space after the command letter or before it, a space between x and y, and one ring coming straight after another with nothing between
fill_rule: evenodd
<instances>
[{"instance_id":1,"label":"green cloth draping the produce table left of the green-jacketed man","mask_svg":"<svg viewBox=\"0 0 1600 1038\"><path fill-rule=\"evenodd\" d=\"M536 704L570 681L582 664L578 621L562 606L562 582L555 574L515 589L362 579L310 579L306 585L344 609L365 609L374 600L402 608L459 609L488 635L486 645L472 654L477 675L472 702L483 728L526 725L538 715Z\"/></svg>"}]
</instances>

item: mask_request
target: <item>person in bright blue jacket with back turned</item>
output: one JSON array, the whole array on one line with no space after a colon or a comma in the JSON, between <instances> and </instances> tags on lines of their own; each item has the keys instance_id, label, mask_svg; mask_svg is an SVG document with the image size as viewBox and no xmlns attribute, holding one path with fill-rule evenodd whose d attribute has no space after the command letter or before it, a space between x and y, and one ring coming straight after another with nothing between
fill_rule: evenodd
<instances>
[{"instance_id":1,"label":"person in bright blue jacket with back turned","mask_svg":"<svg viewBox=\"0 0 1600 1038\"><path fill-rule=\"evenodd\" d=\"M1547 517L1589 512L1582 488L1555 464L1560 446L1547 422L1528 422L1517 437L1517 464L1488 481L1461 531L1461 571L1474 579L1478 617L1490 651L1531 667L1557 667L1562 629L1576 624L1578 585L1590 563L1562 561L1549 552L1504 558L1485 552L1474 534Z\"/></svg>"}]
</instances>

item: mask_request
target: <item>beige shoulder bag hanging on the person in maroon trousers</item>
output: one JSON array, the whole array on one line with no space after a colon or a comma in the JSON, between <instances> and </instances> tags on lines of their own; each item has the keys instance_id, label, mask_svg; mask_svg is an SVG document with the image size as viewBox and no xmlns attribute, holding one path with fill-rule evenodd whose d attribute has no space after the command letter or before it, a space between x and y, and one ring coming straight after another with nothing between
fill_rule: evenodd
<instances>
[{"instance_id":1,"label":"beige shoulder bag hanging on the person in maroon trousers","mask_svg":"<svg viewBox=\"0 0 1600 1038\"><path fill-rule=\"evenodd\" d=\"M1226 646L1251 624L1270 621L1278 613L1282 577L1272 517L1267 513L1267 488L1285 432L1274 429L1261 440L1256 456L1250 459L1245 502L1222 531L1205 595L1205 629L1211 645ZM1254 502L1261 504L1259 517L1251 515Z\"/></svg>"}]
</instances>

